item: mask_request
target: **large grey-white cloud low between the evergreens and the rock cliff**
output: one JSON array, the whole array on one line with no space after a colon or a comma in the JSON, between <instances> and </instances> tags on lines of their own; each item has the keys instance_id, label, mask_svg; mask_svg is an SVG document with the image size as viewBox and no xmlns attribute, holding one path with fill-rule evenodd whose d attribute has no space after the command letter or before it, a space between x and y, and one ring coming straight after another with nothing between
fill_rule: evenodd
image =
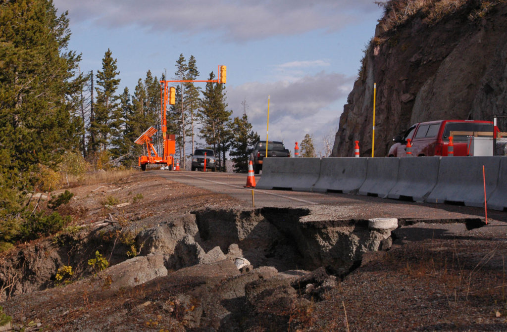
<instances>
[{"instance_id":1,"label":"large grey-white cloud low between the evergreens and the rock cliff","mask_svg":"<svg viewBox=\"0 0 507 332\"><path fill-rule=\"evenodd\" d=\"M228 108L241 116L246 100L246 114L262 138L266 137L268 95L270 96L269 137L284 140L288 149L306 133L313 134L321 145L324 136L338 127L354 78L340 73L325 73L300 78L296 82L247 83L227 88Z\"/></svg>"}]
</instances>

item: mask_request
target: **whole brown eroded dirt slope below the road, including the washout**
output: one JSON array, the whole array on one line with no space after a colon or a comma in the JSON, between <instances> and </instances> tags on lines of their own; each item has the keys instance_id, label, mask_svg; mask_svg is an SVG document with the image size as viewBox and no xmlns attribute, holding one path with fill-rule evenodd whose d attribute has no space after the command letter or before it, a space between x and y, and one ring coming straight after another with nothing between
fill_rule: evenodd
<instances>
[{"instance_id":1,"label":"whole brown eroded dirt slope below the road, including the washout","mask_svg":"<svg viewBox=\"0 0 507 332\"><path fill-rule=\"evenodd\" d=\"M244 208L224 195L165 180L157 183L160 178L153 174L137 176L141 181L77 191L67 209L80 211L77 225L85 226L2 254L2 300L10 298L2 306L15 329L336 330L337 322L344 321L346 304L347 311L353 310L349 319L356 330L382 330L378 322L395 313L380 315L375 308L364 312L371 296L375 303L401 306L417 294L427 298L420 310L410 307L417 319L448 317L449 310L423 314L427 303L445 306L445 297L434 302L420 276L437 278L429 281L437 284L460 280L445 284L448 297L463 293L457 287L465 284L460 278L468 270L480 285L501 283L501 259L507 252L498 251L495 243L505 240L469 234L467 229L482 226L479 218L466 220L466 225L459 223L464 220L440 220L453 223L447 226L457 231L450 235L447 226L425 228L416 219L400 219L396 230L383 229L368 220L339 217L339 206ZM101 203L113 195L119 204ZM459 243L437 240L446 236ZM423 245L401 246L414 238ZM482 260L489 250L494 257ZM102 270L105 261L110 266ZM457 261L459 270L454 267ZM65 275L59 270L63 266L71 267L73 274ZM479 273L484 267L488 273ZM445 271L440 274L439 269ZM384 272L388 284L379 279ZM57 280L59 273L63 278ZM401 290L396 288L399 283L404 285ZM379 284L388 293L379 291ZM405 289L411 289L407 301L392 298L402 292L396 293L402 299ZM360 292L364 299L357 298ZM460 305L455 304L463 313L477 307Z\"/></svg>"}]
</instances>

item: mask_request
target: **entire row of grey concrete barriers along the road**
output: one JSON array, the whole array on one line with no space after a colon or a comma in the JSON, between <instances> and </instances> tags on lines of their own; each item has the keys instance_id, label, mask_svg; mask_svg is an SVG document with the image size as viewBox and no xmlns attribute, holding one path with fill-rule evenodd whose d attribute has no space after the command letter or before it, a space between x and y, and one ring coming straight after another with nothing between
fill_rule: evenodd
<instances>
[{"instance_id":1,"label":"entire row of grey concrete barriers along the road","mask_svg":"<svg viewBox=\"0 0 507 332\"><path fill-rule=\"evenodd\" d=\"M507 157L266 158L257 189L507 209Z\"/></svg>"}]
</instances>

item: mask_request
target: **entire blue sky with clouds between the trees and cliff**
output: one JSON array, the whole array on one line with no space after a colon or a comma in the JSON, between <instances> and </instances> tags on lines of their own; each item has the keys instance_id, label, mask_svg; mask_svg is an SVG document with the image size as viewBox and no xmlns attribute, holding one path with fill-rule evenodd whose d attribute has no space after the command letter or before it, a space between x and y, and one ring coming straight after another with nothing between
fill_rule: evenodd
<instances>
[{"instance_id":1,"label":"entire blue sky with clouds between the trees and cliff","mask_svg":"<svg viewBox=\"0 0 507 332\"><path fill-rule=\"evenodd\" d=\"M295 142L310 134L319 156L326 141L332 147L382 14L374 0L53 3L58 13L68 11L69 49L82 53L81 71L100 70L111 49L120 71L118 94L125 87L133 93L148 70L174 79L180 54L195 57L199 80L226 65L233 117L246 112L253 130L266 139L269 98L269 140L282 140L293 152ZM204 89L205 83L197 84Z\"/></svg>"}]
</instances>

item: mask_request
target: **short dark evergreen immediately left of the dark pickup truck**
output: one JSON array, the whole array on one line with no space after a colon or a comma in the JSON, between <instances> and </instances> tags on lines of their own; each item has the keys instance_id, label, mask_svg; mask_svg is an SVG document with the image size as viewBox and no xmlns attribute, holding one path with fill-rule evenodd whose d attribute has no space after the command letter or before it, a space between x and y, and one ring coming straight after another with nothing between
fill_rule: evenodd
<instances>
[{"instance_id":1,"label":"short dark evergreen immediately left of the dark pickup truck","mask_svg":"<svg viewBox=\"0 0 507 332\"><path fill-rule=\"evenodd\" d=\"M235 117L232 122L232 151L230 153L234 163L234 172L246 173L248 171L248 161L253 151L253 146L261 139L257 132L252 130L252 125L248 122L248 116L243 113L241 118Z\"/></svg>"}]
</instances>

